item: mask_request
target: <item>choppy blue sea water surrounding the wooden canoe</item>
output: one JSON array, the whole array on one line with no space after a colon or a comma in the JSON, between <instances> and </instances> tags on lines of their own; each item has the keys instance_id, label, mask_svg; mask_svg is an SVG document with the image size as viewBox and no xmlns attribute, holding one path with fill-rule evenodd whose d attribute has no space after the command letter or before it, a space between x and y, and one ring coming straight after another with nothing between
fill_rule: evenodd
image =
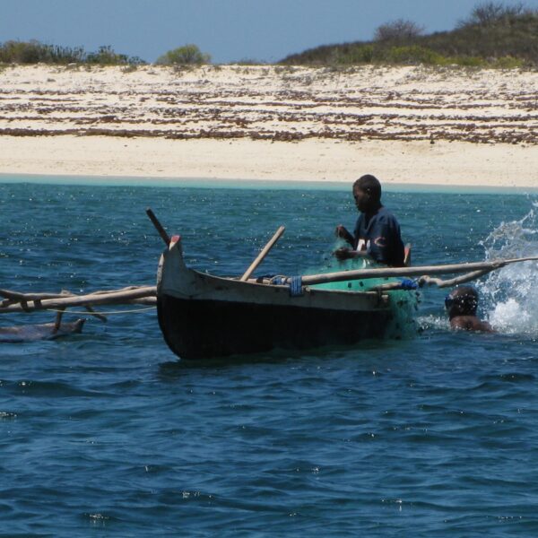
<instances>
[{"instance_id":1,"label":"choppy blue sea water surrounding the wooden canoe","mask_svg":"<svg viewBox=\"0 0 538 538\"><path fill-rule=\"evenodd\" d=\"M242 274L281 224L258 274L323 268L351 189L277 187L4 182L0 288L152 285L148 206L199 270ZM534 200L384 196L413 265L538 255ZM0 536L538 535L537 267L479 290L496 334L450 332L430 288L404 338L351 349L188 364L142 307L0 344Z\"/></svg>"}]
</instances>

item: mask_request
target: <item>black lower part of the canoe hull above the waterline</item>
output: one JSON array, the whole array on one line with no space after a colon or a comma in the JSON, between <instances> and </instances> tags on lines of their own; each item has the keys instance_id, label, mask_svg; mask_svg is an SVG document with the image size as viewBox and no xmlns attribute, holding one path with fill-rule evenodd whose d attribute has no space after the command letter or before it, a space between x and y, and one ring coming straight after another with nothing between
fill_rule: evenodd
<instances>
[{"instance_id":1,"label":"black lower part of the canoe hull above the waterline","mask_svg":"<svg viewBox=\"0 0 538 538\"><path fill-rule=\"evenodd\" d=\"M161 294L159 324L184 360L351 345L383 338L391 311L334 310L247 302L179 299Z\"/></svg>"}]
</instances>

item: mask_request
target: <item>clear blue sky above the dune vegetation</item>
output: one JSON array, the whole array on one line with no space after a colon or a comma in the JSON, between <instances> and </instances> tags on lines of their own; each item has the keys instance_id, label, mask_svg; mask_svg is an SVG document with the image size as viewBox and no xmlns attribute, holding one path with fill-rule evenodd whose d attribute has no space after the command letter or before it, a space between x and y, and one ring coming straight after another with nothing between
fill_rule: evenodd
<instances>
[{"instance_id":1,"label":"clear blue sky above the dune vegetation","mask_svg":"<svg viewBox=\"0 0 538 538\"><path fill-rule=\"evenodd\" d=\"M0 42L39 39L152 62L195 43L213 62L274 62L306 48L371 39L404 18L450 30L477 0L0 0ZM507 4L514 4L508 0ZM538 0L527 0L538 8Z\"/></svg>"}]
</instances>

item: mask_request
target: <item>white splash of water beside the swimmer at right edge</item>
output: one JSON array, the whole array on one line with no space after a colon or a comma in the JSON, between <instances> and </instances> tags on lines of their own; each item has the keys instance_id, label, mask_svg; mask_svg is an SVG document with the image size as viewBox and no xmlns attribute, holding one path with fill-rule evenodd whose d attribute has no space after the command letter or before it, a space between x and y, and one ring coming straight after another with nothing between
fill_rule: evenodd
<instances>
[{"instance_id":1,"label":"white splash of water beside the swimmer at right edge","mask_svg":"<svg viewBox=\"0 0 538 538\"><path fill-rule=\"evenodd\" d=\"M501 222L482 246L487 260L538 256L538 203L521 221ZM495 329L538 334L538 263L508 265L490 273L477 287Z\"/></svg>"}]
</instances>

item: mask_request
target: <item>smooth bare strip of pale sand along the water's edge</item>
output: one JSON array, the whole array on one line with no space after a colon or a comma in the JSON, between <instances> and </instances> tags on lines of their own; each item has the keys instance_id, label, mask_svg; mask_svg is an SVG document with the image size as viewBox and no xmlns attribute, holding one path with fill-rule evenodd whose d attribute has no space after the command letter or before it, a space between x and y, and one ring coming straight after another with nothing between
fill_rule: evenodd
<instances>
[{"instance_id":1,"label":"smooth bare strip of pale sand along the water's edge","mask_svg":"<svg viewBox=\"0 0 538 538\"><path fill-rule=\"evenodd\" d=\"M538 148L439 141L298 143L108 136L0 136L4 177L143 178L351 184L362 174L390 186L538 187Z\"/></svg>"}]
</instances>

